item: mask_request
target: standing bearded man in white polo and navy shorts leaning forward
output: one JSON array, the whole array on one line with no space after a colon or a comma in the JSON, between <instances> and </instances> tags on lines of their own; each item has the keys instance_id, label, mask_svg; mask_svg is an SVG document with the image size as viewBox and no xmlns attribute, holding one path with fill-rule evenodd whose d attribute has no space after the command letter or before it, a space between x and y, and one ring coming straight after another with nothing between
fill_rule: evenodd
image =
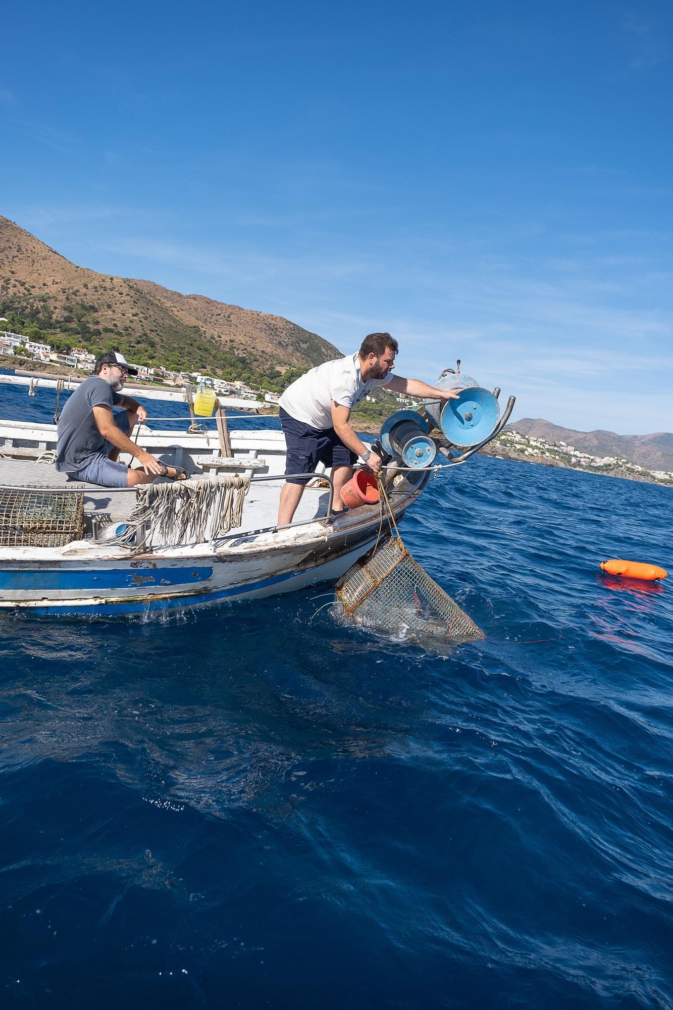
<instances>
[{"instance_id":1,"label":"standing bearded man in white polo and navy shorts leaning forward","mask_svg":"<svg viewBox=\"0 0 673 1010\"><path fill-rule=\"evenodd\" d=\"M281 491L278 525L292 522L304 486L318 463L331 467L334 511L341 511L341 490L353 476L359 456L372 470L381 460L358 437L349 423L351 411L375 386L409 396L457 399L459 391L441 390L416 379L393 376L397 340L390 333L370 333L360 350L325 362L293 382L280 398L280 422L287 443L286 481Z\"/></svg>"}]
</instances>

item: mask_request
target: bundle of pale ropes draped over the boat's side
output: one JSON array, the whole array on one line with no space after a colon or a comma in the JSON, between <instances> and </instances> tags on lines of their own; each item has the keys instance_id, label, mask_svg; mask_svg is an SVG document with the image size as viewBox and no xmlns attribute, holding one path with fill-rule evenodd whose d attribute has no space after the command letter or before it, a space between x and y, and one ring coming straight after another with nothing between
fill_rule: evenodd
<instances>
[{"instance_id":1,"label":"bundle of pale ropes draped over the boat's side","mask_svg":"<svg viewBox=\"0 0 673 1010\"><path fill-rule=\"evenodd\" d=\"M129 525L148 527L148 544L204 543L241 525L249 488L250 477L243 474L143 484L135 489Z\"/></svg>"}]
</instances>

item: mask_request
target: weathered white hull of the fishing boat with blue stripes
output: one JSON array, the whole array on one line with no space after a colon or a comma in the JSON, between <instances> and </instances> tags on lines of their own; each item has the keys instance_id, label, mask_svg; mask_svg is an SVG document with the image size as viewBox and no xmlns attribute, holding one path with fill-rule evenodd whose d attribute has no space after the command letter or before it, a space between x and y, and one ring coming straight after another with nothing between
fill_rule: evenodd
<instances>
[{"instance_id":1,"label":"weathered white hull of the fishing boat with blue stripes","mask_svg":"<svg viewBox=\"0 0 673 1010\"><path fill-rule=\"evenodd\" d=\"M49 492L50 487L60 487L59 481L64 484L60 475L39 462L42 453L56 447L56 436L55 425L0 421L0 447L8 457L0 462L0 471L4 468L0 486L8 491L37 487ZM247 473L253 483L243 522L233 527L236 531L212 543L163 546L150 539L145 547L125 547L114 538L99 536L97 530L127 521L135 501L132 492L132 498L126 491L115 497L105 488L84 486L85 520L91 523L92 517L100 516L101 521L89 532L85 525L83 539L60 547L0 548L0 613L110 616L291 593L334 582L387 532L389 517L383 518L378 506L328 516L327 491L319 483L312 491L307 489L295 522L277 529L273 524L285 480L285 440L280 431L232 432L233 457L226 459L217 457L207 431L153 430L141 438L149 451L163 453L171 465L189 467L201 479L208 465L221 460ZM204 457L208 450L211 454ZM428 478L427 473L412 474L391 491L396 521L417 500Z\"/></svg>"}]
</instances>

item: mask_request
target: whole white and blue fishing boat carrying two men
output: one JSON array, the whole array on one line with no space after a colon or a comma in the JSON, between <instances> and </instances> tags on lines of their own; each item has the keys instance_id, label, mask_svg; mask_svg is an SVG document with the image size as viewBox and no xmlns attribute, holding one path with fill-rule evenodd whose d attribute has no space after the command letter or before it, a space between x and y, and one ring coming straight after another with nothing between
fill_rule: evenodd
<instances>
[{"instance_id":1,"label":"whole white and blue fishing boat carrying two men","mask_svg":"<svg viewBox=\"0 0 673 1010\"><path fill-rule=\"evenodd\" d=\"M26 385L33 393L40 387L67 389L54 378L0 376L2 383ZM187 481L159 479L132 489L73 483L54 467L56 423L0 420L0 608L5 611L127 614L288 593L335 581L387 532L391 514L380 504L334 513L329 474L320 472L311 475L293 522L279 528L281 431L255 426L254 416L244 430L229 431L224 409L241 404L223 397L216 427L208 430L205 422L195 423L200 419L193 410L188 414L189 391L132 392L187 404L188 430L162 429L161 420L151 417L151 426L132 433L161 462L184 467ZM488 421L481 444L502 428L512 403L495 425ZM418 414L399 411L395 417L382 435L392 456L386 493L399 522L425 490L438 447L453 446L442 431L431 439ZM424 438L422 448L418 438ZM478 447L458 457L454 449L445 465L463 462ZM131 458L122 453L120 461L130 464Z\"/></svg>"}]
</instances>

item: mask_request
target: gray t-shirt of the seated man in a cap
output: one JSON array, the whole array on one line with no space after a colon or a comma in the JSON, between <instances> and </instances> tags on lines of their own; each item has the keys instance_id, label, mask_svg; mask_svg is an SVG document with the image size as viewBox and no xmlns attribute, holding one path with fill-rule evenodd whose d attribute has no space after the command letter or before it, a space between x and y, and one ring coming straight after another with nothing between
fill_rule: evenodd
<instances>
[{"instance_id":1,"label":"gray t-shirt of the seated man in a cap","mask_svg":"<svg viewBox=\"0 0 673 1010\"><path fill-rule=\"evenodd\" d=\"M98 376L85 379L63 408L57 428L57 470L76 474L101 452L105 439L98 430L94 407L109 407L121 403L123 396L113 393L108 383Z\"/></svg>"}]
</instances>

